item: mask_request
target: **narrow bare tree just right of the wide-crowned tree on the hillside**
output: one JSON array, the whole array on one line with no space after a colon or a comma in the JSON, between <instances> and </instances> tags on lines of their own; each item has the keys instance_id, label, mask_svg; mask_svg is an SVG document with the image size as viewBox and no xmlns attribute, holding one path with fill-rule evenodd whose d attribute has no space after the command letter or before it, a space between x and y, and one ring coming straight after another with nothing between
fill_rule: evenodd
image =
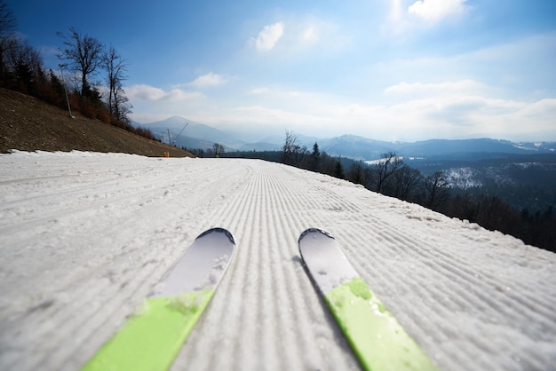
<instances>
[{"instance_id":1,"label":"narrow bare tree just right of the wide-crowned tree on the hillside","mask_svg":"<svg viewBox=\"0 0 556 371\"><path fill-rule=\"evenodd\" d=\"M126 121L127 114L130 112L130 105L127 104L128 99L125 97L122 83L127 79L125 73L127 67L125 61L110 46L103 56L103 67L107 70L107 107L108 112L112 114L116 120Z\"/></svg>"}]
</instances>

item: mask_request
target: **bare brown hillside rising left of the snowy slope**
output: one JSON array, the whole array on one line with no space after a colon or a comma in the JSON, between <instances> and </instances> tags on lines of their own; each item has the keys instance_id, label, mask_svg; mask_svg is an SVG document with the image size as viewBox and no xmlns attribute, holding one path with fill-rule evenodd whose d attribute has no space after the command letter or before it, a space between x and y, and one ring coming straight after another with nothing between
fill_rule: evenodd
<instances>
[{"instance_id":1,"label":"bare brown hillside rising left of the snowy slope","mask_svg":"<svg viewBox=\"0 0 556 371\"><path fill-rule=\"evenodd\" d=\"M20 151L91 151L162 157L191 156L186 151L139 137L97 120L0 88L0 153Z\"/></svg>"}]
</instances>

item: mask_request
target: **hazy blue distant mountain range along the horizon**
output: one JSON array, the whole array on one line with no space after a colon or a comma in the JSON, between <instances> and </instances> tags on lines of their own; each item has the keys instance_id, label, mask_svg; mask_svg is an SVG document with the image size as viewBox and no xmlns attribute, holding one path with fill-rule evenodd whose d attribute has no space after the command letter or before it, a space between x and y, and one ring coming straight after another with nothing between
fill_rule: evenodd
<instances>
[{"instance_id":1,"label":"hazy blue distant mountain range along the horizon","mask_svg":"<svg viewBox=\"0 0 556 371\"><path fill-rule=\"evenodd\" d=\"M133 122L137 127L147 128L156 138L164 143L187 148L211 148L214 143L225 146L227 152L232 151L275 151L282 149L285 136L261 138L255 143L246 143L236 138L231 132L218 130L199 122L183 117L172 116L166 120L150 123ZM556 142L514 143L507 140L490 138L479 139L431 139L407 142L385 142L354 135L343 135L336 138L317 138L298 136L300 146L311 151L314 143L319 145L321 152L333 156L342 156L362 161L376 160L382 154L395 152L406 158L465 159L495 158L500 154L556 154Z\"/></svg>"}]
</instances>

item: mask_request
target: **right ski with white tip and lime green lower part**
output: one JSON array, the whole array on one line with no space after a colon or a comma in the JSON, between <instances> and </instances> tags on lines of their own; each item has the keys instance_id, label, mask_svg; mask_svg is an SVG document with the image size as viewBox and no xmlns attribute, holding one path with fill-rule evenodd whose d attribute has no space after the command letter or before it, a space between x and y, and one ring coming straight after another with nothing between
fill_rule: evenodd
<instances>
[{"instance_id":1,"label":"right ski with white tip and lime green lower part","mask_svg":"<svg viewBox=\"0 0 556 371\"><path fill-rule=\"evenodd\" d=\"M436 370L385 305L355 272L329 233L310 228L299 252L317 291L366 370Z\"/></svg>"}]
</instances>

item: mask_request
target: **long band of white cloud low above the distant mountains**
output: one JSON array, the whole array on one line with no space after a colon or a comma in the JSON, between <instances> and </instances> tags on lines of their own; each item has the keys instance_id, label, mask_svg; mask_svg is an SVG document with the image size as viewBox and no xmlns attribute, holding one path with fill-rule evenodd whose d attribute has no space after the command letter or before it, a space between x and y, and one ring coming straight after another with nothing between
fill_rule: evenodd
<instances>
[{"instance_id":1,"label":"long band of white cloud low above the distant mountains","mask_svg":"<svg viewBox=\"0 0 556 371\"><path fill-rule=\"evenodd\" d=\"M126 88L133 118L139 122L147 122L141 121L146 113L177 114L215 127L257 131L260 138L283 129L322 138L351 133L404 141L556 136L556 99L500 98L499 88L474 79L401 82L382 92L382 100L380 96L352 100L341 94L255 85L243 94L236 91L230 100L227 95L204 97L200 92L163 91L149 85Z\"/></svg>"}]
</instances>

